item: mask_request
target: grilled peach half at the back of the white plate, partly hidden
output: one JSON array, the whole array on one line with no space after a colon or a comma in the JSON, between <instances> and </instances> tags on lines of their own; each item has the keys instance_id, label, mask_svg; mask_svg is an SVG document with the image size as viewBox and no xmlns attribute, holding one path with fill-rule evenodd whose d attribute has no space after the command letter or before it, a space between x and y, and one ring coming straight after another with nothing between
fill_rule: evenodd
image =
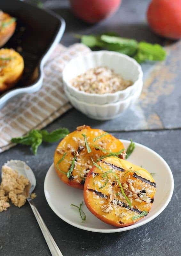
<instances>
[{"instance_id":1,"label":"grilled peach half at the back of the white plate, partly hidden","mask_svg":"<svg viewBox=\"0 0 181 256\"><path fill-rule=\"evenodd\" d=\"M92 160L97 162L112 152L124 157L120 140L102 130L79 126L59 143L54 155L55 170L67 185L83 189Z\"/></svg>"}]
</instances>

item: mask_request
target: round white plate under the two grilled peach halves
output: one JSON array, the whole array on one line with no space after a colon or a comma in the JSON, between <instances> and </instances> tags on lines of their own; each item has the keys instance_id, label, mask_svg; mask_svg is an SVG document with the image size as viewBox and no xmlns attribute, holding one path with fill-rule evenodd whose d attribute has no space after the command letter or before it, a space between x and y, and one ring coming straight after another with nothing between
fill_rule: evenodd
<instances>
[{"instance_id":1,"label":"round white plate under the two grilled peach halves","mask_svg":"<svg viewBox=\"0 0 181 256\"><path fill-rule=\"evenodd\" d=\"M123 142L125 148L127 148L130 144L130 141L128 140L121 141ZM97 219L86 208L85 204L83 204L82 209L86 214L87 220L85 223L82 223L78 209L70 206L70 204L79 205L83 201L83 191L76 188L71 188L64 184L58 178L52 164L45 177L44 193L46 200L53 212L72 226L100 233L113 233L130 230L142 226L157 217L169 204L172 197L174 188L173 175L169 165L161 156L150 148L138 143L135 144L135 150L128 160L133 164L139 166L142 165L143 168L148 170L148 172L154 172L155 174L153 177L157 185L153 206L145 218L131 226L115 228Z\"/></svg>"}]
</instances>

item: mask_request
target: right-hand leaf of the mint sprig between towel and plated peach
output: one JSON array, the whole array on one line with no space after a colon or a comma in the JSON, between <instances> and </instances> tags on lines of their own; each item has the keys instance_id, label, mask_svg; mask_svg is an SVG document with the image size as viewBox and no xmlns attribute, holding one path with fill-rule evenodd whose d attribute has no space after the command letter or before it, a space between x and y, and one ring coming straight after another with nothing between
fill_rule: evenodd
<instances>
[{"instance_id":1,"label":"right-hand leaf of the mint sprig between towel and plated peach","mask_svg":"<svg viewBox=\"0 0 181 256\"><path fill-rule=\"evenodd\" d=\"M63 139L69 133L69 130L67 128L59 128L50 133L46 130L41 130L40 132L43 136L43 141L51 143Z\"/></svg>"}]
</instances>

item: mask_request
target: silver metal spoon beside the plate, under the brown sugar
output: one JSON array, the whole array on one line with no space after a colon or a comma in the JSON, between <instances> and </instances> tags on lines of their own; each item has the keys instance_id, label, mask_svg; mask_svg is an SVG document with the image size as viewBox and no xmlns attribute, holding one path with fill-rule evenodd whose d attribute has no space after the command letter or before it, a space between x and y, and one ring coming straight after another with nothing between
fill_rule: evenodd
<instances>
[{"instance_id":1,"label":"silver metal spoon beside the plate, under the brown sugar","mask_svg":"<svg viewBox=\"0 0 181 256\"><path fill-rule=\"evenodd\" d=\"M27 186L27 188L24 191L26 199L27 199L28 203L30 204L33 213L35 214L35 218L38 221L38 224L42 230L43 236L44 236L46 243L50 249L51 255L52 256L63 256L59 250L59 247L57 246L53 237L51 236L47 226L45 225L40 213L36 209L34 202L32 201L32 199L30 197L31 193L33 192L33 190L36 186L36 179L35 179L35 175L34 175L33 171L25 162L20 161L20 160L8 161L5 165L11 167L13 170L18 171L18 173L20 175L25 176L30 181L30 186Z\"/></svg>"}]
</instances>

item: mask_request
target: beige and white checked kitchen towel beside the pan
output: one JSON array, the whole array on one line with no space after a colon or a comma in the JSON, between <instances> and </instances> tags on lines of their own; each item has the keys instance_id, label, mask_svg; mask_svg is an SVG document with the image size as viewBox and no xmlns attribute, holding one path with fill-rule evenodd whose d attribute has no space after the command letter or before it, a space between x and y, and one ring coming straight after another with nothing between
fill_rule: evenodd
<instances>
[{"instance_id":1,"label":"beige and white checked kitchen towel beside the pan","mask_svg":"<svg viewBox=\"0 0 181 256\"><path fill-rule=\"evenodd\" d=\"M14 146L13 137L32 129L42 129L72 106L63 91L62 70L65 64L90 49L83 44L57 45L44 66L43 85L38 92L24 94L0 110L0 153Z\"/></svg>"}]
</instances>

